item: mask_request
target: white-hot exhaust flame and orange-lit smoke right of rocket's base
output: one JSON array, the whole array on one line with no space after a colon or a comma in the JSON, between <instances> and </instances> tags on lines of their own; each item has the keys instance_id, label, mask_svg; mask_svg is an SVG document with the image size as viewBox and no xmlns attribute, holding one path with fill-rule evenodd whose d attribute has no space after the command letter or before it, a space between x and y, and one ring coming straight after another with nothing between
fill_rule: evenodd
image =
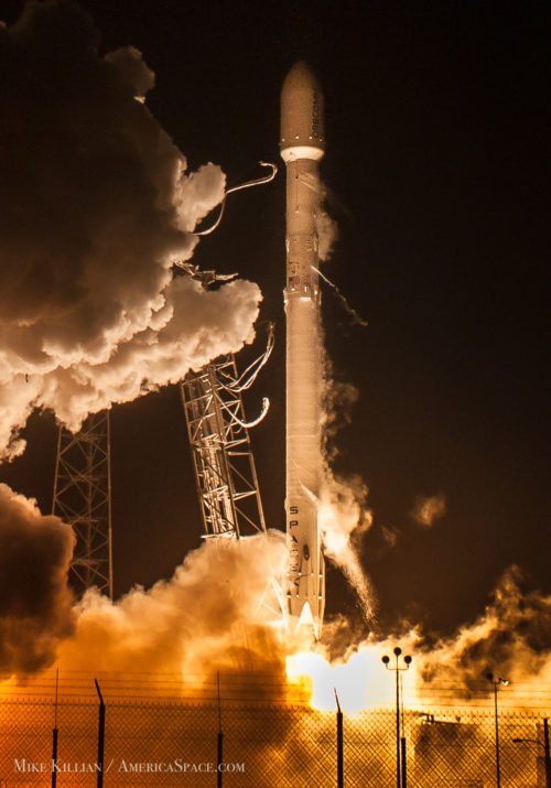
<instances>
[{"instance_id":1,"label":"white-hot exhaust flame and orange-lit smoke right of rocket's base","mask_svg":"<svg viewBox=\"0 0 551 788\"><path fill-rule=\"evenodd\" d=\"M396 637L378 640L370 635L352 644L342 659L328 659L322 647L293 654L287 660L289 680L309 691L311 704L322 711L336 709L334 688L348 713L388 706L392 684L381 657L399 641L413 656L402 676L406 708L487 704L493 688L485 677L493 668L514 690L504 695L505 706L544 708L551 679L551 597L522 591L522 584L519 570L509 569L485 613L449 638L434 641L421 628L404 626Z\"/></svg>"}]
</instances>

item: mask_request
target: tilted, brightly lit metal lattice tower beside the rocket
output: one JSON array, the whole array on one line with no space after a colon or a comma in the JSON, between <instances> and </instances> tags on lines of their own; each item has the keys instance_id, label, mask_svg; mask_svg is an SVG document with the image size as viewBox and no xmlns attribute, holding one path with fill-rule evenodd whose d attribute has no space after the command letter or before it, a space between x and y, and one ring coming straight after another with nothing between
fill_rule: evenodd
<instances>
[{"instance_id":1,"label":"tilted, brightly lit metal lattice tower beside the rocket","mask_svg":"<svg viewBox=\"0 0 551 788\"><path fill-rule=\"evenodd\" d=\"M252 424L245 420L241 399L250 384L242 377L228 355L181 384L205 537L239 539L266 531L248 432Z\"/></svg>"}]
</instances>

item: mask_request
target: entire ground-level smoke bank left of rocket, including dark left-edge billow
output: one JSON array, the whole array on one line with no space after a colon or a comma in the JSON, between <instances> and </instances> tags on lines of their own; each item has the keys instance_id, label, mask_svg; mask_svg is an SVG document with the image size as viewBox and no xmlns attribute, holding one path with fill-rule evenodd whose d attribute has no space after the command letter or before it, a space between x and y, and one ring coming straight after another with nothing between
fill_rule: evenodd
<instances>
[{"instance_id":1,"label":"entire ground-level smoke bank left of rocket, including dark left-edge billow","mask_svg":"<svg viewBox=\"0 0 551 788\"><path fill-rule=\"evenodd\" d=\"M274 624L274 581L284 535L207 540L169 581L114 603L96 589L74 605L71 526L0 484L0 671L63 669L193 674L284 671ZM279 622L281 624L281 622Z\"/></svg>"}]
</instances>

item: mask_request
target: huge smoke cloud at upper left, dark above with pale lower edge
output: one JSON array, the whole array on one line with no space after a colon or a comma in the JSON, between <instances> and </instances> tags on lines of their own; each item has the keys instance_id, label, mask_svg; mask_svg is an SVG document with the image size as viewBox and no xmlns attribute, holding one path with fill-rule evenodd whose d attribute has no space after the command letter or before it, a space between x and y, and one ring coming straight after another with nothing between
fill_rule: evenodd
<instances>
[{"instance_id":1,"label":"huge smoke cloud at upper left, dark above with pale lower edge","mask_svg":"<svg viewBox=\"0 0 551 788\"><path fill-rule=\"evenodd\" d=\"M260 292L174 278L225 176L186 161L137 98L133 47L100 57L71 0L0 26L0 446L23 451L33 407L72 430L252 338Z\"/></svg>"}]
</instances>

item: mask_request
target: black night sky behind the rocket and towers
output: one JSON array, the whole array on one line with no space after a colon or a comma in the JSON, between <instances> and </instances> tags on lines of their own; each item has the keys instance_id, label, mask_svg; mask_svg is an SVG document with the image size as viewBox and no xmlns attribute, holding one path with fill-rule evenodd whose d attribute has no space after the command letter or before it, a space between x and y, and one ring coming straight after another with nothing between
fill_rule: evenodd
<instances>
[{"instance_id":1,"label":"black night sky behind the rocket and towers","mask_svg":"<svg viewBox=\"0 0 551 788\"><path fill-rule=\"evenodd\" d=\"M83 0L106 52L142 51L156 74L148 106L195 168L230 185L278 161L279 91L294 61L324 87L323 176L341 238L325 272L368 320L324 314L338 379L360 396L338 469L370 488L363 563L381 628L401 617L450 630L482 612L518 563L551 592L544 253L549 183L549 22L543 2L321 4ZM21 2L3 4L12 22ZM36 75L40 79L40 75ZM6 108L4 108L6 110ZM283 526L284 177L228 202L195 261L238 270L264 294L278 346L250 392L271 411L252 433L269 525ZM251 357L247 350L244 363ZM51 417L1 477L51 506ZM175 388L112 417L115 579L169 576L202 526ZM443 492L432 529L418 495ZM381 526L397 533L385 542ZM354 597L331 571L327 612Z\"/></svg>"}]
</instances>

